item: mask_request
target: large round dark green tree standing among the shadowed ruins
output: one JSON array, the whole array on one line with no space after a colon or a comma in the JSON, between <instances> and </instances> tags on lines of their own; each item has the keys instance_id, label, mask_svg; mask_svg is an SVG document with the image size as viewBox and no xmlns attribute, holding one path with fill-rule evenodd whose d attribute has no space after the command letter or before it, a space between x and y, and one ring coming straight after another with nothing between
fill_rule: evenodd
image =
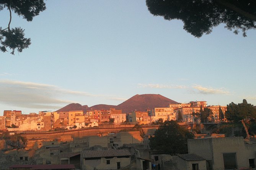
<instances>
[{"instance_id":1,"label":"large round dark green tree standing among the shadowed ruins","mask_svg":"<svg viewBox=\"0 0 256 170\"><path fill-rule=\"evenodd\" d=\"M174 120L166 120L163 125L150 136L149 146L151 149L163 151L168 154L184 154L188 152L188 139L194 135L186 128L180 126Z\"/></svg>"}]
</instances>

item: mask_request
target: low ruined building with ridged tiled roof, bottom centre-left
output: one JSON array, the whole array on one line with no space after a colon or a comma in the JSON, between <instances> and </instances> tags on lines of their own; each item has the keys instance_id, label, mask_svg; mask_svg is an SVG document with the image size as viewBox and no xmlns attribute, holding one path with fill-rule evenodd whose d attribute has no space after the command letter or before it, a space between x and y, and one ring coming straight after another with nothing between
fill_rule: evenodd
<instances>
[{"instance_id":1,"label":"low ruined building with ridged tiled roof, bottom centre-left","mask_svg":"<svg viewBox=\"0 0 256 170\"><path fill-rule=\"evenodd\" d=\"M82 151L82 170L116 170L130 165L131 154L127 149Z\"/></svg>"}]
</instances>

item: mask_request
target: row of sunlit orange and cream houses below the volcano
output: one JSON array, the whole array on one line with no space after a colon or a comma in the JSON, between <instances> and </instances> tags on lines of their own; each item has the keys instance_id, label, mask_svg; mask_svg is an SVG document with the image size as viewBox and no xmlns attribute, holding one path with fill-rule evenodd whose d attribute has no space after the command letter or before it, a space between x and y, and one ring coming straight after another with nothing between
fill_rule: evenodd
<instances>
[{"instance_id":1,"label":"row of sunlit orange and cream houses below the volcano","mask_svg":"<svg viewBox=\"0 0 256 170\"><path fill-rule=\"evenodd\" d=\"M198 119L193 113L200 112L200 109L209 108L214 114L214 121L219 120L220 109L225 114L226 106L207 106L206 101L191 101L189 103L170 103L167 107L155 107L146 111L132 111L123 113L122 110L89 110L89 111L67 111L67 112L47 112L39 111L38 114L21 114L21 111L6 110L0 116L0 130L9 131L48 131L55 128L80 129L94 127L99 124L111 122L114 125L122 123L138 123L139 125L150 125L159 119L178 120L179 113L182 121L187 124L198 123Z\"/></svg>"}]
</instances>

